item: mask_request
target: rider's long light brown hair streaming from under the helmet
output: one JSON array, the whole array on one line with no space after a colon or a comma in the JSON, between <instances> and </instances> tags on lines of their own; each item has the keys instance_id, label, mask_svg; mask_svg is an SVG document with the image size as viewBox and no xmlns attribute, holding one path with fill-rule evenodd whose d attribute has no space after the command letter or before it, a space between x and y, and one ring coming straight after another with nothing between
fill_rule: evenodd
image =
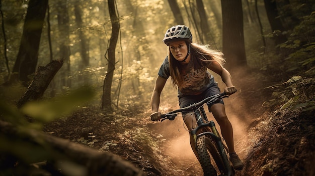
<instances>
[{"instance_id":1,"label":"rider's long light brown hair streaming from under the helmet","mask_svg":"<svg viewBox=\"0 0 315 176\"><path fill-rule=\"evenodd\" d=\"M187 48L189 44L187 44ZM200 59L207 62L217 62L222 65L225 63L223 58L223 53L219 50L214 50L210 48L210 45L200 45L197 43L190 44L190 58ZM177 61L171 53L169 47L169 63L170 63L170 75L172 78L173 87L178 86L180 89L184 86L184 80L180 72L180 61Z\"/></svg>"}]
</instances>

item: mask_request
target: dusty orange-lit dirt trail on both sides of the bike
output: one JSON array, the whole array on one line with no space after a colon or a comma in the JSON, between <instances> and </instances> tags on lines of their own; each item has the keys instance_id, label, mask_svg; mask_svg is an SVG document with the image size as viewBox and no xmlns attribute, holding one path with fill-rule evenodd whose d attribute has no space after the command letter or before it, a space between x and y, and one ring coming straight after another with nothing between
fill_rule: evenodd
<instances>
[{"instance_id":1,"label":"dusty orange-lit dirt trail on both sides of the bike","mask_svg":"<svg viewBox=\"0 0 315 176\"><path fill-rule=\"evenodd\" d=\"M248 145L248 127L253 117L253 115L248 115L243 113L240 114L233 113L233 108L229 108L237 98L233 98L233 95L228 99L225 99L226 113L232 123L234 131L234 145L235 150L238 152L240 157L244 160L247 152L250 148ZM240 105L240 104L238 104ZM175 109L175 108L173 108ZM214 120L211 113L207 113L210 120ZM216 121L214 120L216 123ZM173 160L178 169L188 170L192 175L202 175L202 168L194 155L190 143L189 143L189 133L180 115L174 121L166 120L163 122L152 122L148 124L149 128L154 131L157 136L164 141L160 148L165 152L166 155ZM218 130L220 127L216 123ZM241 175L239 171L237 175Z\"/></svg>"}]
</instances>

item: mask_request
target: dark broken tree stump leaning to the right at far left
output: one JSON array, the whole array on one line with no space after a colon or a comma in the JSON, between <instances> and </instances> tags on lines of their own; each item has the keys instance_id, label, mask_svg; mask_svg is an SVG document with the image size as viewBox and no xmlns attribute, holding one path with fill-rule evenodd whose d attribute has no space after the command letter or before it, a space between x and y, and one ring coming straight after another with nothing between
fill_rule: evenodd
<instances>
[{"instance_id":1,"label":"dark broken tree stump leaning to the right at far left","mask_svg":"<svg viewBox=\"0 0 315 176\"><path fill-rule=\"evenodd\" d=\"M27 101L40 99L43 96L51 80L61 68L62 64L63 61L53 60L45 67L39 66L33 81L27 88L24 95L18 101L17 107L20 108Z\"/></svg>"}]
</instances>

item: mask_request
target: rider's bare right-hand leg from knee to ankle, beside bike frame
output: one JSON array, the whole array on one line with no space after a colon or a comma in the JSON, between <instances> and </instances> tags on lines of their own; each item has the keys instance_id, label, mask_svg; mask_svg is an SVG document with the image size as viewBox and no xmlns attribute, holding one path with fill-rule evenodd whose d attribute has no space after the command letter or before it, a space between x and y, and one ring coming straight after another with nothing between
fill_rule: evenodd
<instances>
[{"instance_id":1,"label":"rider's bare right-hand leg from knee to ankle, beside bike frame","mask_svg":"<svg viewBox=\"0 0 315 176\"><path fill-rule=\"evenodd\" d=\"M210 108L215 120L220 125L221 134L224 138L229 152L235 152L234 150L234 138L232 124L228 120L225 114L225 108L223 104L217 103Z\"/></svg>"}]
</instances>

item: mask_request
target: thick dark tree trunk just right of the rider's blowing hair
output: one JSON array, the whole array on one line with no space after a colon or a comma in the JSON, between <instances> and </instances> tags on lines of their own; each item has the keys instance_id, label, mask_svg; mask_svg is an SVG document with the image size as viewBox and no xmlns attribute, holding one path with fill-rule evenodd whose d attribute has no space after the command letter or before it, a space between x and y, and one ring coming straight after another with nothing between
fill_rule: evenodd
<instances>
[{"instance_id":1,"label":"thick dark tree trunk just right of the rider's blowing hair","mask_svg":"<svg viewBox=\"0 0 315 176\"><path fill-rule=\"evenodd\" d=\"M223 53L229 70L246 66L242 0L221 0L223 19Z\"/></svg>"}]
</instances>

